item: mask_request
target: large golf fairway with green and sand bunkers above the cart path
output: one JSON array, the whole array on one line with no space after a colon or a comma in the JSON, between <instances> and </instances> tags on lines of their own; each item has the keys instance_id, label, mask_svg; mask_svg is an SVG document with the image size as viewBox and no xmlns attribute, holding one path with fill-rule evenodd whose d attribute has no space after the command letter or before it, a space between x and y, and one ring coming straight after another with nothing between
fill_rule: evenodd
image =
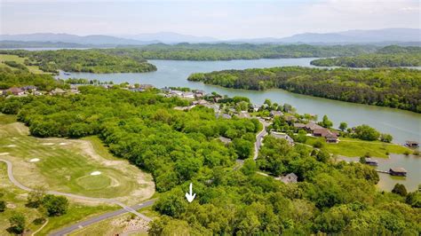
<instances>
[{"instance_id":1,"label":"large golf fairway with green and sand bunkers above the cart path","mask_svg":"<svg viewBox=\"0 0 421 236\"><path fill-rule=\"evenodd\" d=\"M44 185L49 190L87 197L121 198L127 203L154 194L150 175L128 161L103 158L99 153L107 153L107 148L96 142L90 145L88 140L34 138L28 136L28 128L22 123L14 122L9 115L0 116L0 153L8 153L1 158L12 161L13 174L23 185ZM100 175L92 176L94 171Z\"/></svg>"}]
</instances>

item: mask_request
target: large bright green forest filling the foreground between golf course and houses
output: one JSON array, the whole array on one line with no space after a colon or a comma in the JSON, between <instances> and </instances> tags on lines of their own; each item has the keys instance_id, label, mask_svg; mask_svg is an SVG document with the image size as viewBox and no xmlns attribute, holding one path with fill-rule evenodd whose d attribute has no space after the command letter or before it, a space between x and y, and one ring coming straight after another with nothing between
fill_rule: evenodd
<instances>
[{"instance_id":1,"label":"large bright green forest filling the foreground between golf course and houses","mask_svg":"<svg viewBox=\"0 0 421 236\"><path fill-rule=\"evenodd\" d=\"M262 127L256 119L217 119L212 109L131 92L81 87L81 94L7 98L0 111L18 114L37 137L98 135L116 156L150 171L161 192L152 235L404 234L421 231L420 193L377 192L377 172L360 163L330 161L306 146L266 137L253 161ZM233 99L234 100L234 99ZM241 101L239 101L241 102ZM219 137L231 138L224 144ZM235 164L245 159L242 166ZM285 185L269 173L298 176ZM187 203L190 182L196 198Z\"/></svg>"}]
</instances>

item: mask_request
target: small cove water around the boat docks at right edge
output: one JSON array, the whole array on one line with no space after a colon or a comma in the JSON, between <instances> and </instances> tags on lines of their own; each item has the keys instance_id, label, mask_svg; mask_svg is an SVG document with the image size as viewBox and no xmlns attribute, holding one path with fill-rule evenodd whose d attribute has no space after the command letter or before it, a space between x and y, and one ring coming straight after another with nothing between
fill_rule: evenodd
<instances>
[{"instance_id":1,"label":"small cove water around the boat docks at right edge","mask_svg":"<svg viewBox=\"0 0 421 236\"><path fill-rule=\"evenodd\" d=\"M359 161L356 158L341 157L344 161ZM405 185L407 190L415 191L421 184L421 157L414 155L390 154L390 158L373 158L378 161L377 169L389 170L393 167L403 167L408 171L407 177L393 177L389 174L378 173L380 181L377 187L381 190L391 191L396 183Z\"/></svg>"}]
</instances>

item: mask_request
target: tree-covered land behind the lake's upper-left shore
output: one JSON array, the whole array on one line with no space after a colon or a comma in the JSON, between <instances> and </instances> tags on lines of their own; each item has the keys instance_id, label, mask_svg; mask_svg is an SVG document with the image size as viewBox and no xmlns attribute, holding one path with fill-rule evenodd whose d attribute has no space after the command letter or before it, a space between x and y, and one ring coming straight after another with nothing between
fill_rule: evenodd
<instances>
[{"instance_id":1,"label":"tree-covered land behind the lake's upper-left shore","mask_svg":"<svg viewBox=\"0 0 421 236\"><path fill-rule=\"evenodd\" d=\"M44 72L58 70L88 73L141 73L155 71L156 67L145 59L111 55L102 50L59 50L59 51L0 51L27 57L27 66L38 66Z\"/></svg>"}]
</instances>

